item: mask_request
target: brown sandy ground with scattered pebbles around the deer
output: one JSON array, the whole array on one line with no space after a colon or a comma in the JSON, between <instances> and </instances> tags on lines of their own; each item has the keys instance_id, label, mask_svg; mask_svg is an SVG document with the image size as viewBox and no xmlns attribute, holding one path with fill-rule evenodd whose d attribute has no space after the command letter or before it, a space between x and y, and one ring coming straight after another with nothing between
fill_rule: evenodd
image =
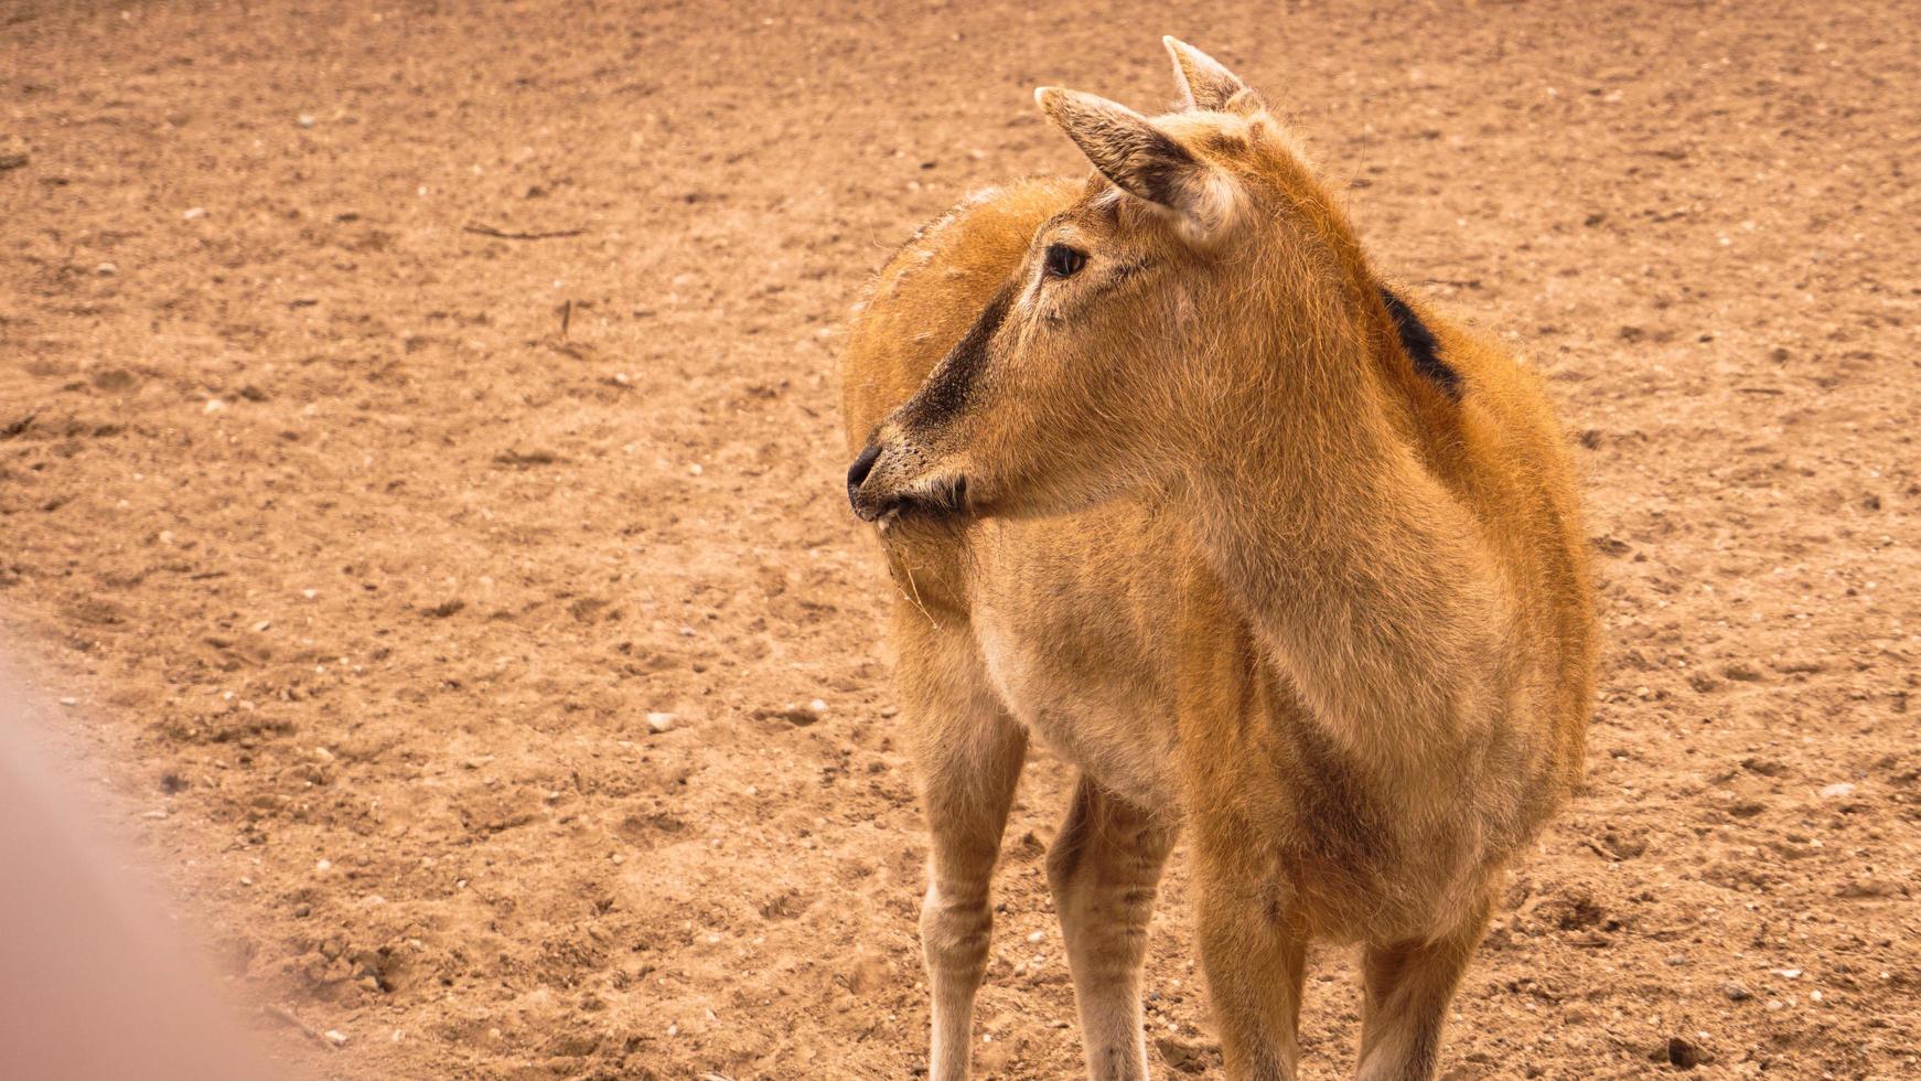
<instances>
[{"instance_id":1,"label":"brown sandy ground with scattered pebbles around the deer","mask_svg":"<svg viewBox=\"0 0 1921 1081\"><path fill-rule=\"evenodd\" d=\"M328 1077L924 1064L836 353L916 223L1082 169L1033 84L1156 108L1176 33L1579 436L1589 785L1448 1075L1921 1077L1911 6L1028 8L0 10L0 630L223 975L346 1043L263 1039ZM985 1075L1078 1069L1068 780L1009 831ZM1218 1071L1185 883L1168 1077ZM1308 1077L1356 1021L1329 950Z\"/></svg>"}]
</instances>

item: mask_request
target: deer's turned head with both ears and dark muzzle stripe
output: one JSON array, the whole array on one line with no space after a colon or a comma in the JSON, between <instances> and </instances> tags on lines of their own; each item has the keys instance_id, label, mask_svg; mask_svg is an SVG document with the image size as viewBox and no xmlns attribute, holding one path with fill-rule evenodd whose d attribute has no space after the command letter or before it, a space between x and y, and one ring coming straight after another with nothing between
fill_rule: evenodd
<instances>
[{"instance_id":1,"label":"deer's turned head with both ears and dark muzzle stripe","mask_svg":"<svg viewBox=\"0 0 1921 1081\"><path fill-rule=\"evenodd\" d=\"M1372 296L1366 271L1291 132L1226 67L1164 40L1183 109L1035 92L1095 175L874 430L847 472L863 518L1068 513L1164 484L1210 428L1279 407L1245 390L1285 382L1264 369L1301 336L1352 332L1327 313Z\"/></svg>"}]
</instances>

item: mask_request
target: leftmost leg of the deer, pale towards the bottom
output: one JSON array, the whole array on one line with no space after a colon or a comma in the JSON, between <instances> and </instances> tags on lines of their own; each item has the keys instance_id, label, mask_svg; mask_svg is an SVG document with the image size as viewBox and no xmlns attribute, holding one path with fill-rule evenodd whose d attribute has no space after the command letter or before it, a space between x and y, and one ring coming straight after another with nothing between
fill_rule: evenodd
<instances>
[{"instance_id":1,"label":"leftmost leg of the deer, pale towards the bottom","mask_svg":"<svg viewBox=\"0 0 1921 1081\"><path fill-rule=\"evenodd\" d=\"M928 703L932 726L916 751L928 814L928 897L920 947L934 991L932 1081L964 1081L974 1048L974 993L987 968L993 929L989 887L1001 829L1014 801L1026 732L982 695Z\"/></svg>"}]
</instances>

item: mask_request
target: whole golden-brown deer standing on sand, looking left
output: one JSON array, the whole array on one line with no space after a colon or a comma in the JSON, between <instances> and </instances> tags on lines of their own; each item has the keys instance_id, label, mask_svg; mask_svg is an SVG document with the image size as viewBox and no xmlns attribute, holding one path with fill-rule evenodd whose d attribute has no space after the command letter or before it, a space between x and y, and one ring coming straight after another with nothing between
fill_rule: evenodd
<instances>
[{"instance_id":1,"label":"whole golden-brown deer standing on sand, looking left","mask_svg":"<svg viewBox=\"0 0 1921 1081\"><path fill-rule=\"evenodd\" d=\"M1425 1079L1504 874L1581 778L1587 540L1544 382L1366 257L1302 140L1164 38L1179 106L1043 86L1083 179L970 196L857 305L847 497L880 540L930 833L934 1081L968 1075L1030 739L1089 1077L1149 1073L1187 845L1228 1077L1295 1077L1310 943L1356 1077Z\"/></svg>"}]
</instances>

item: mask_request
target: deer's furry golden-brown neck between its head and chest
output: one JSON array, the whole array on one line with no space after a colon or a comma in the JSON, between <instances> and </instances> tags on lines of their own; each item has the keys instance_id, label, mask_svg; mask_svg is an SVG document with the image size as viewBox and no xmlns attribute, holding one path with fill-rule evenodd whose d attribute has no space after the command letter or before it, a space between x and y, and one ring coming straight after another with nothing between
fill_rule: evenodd
<instances>
[{"instance_id":1,"label":"deer's furry golden-brown neck between its head and chest","mask_svg":"<svg viewBox=\"0 0 1921 1081\"><path fill-rule=\"evenodd\" d=\"M1189 499L1210 563L1316 716L1354 749L1418 755L1498 709L1508 601L1473 518L1354 351L1297 344L1285 388L1226 396L1233 415L1206 424Z\"/></svg>"}]
</instances>

